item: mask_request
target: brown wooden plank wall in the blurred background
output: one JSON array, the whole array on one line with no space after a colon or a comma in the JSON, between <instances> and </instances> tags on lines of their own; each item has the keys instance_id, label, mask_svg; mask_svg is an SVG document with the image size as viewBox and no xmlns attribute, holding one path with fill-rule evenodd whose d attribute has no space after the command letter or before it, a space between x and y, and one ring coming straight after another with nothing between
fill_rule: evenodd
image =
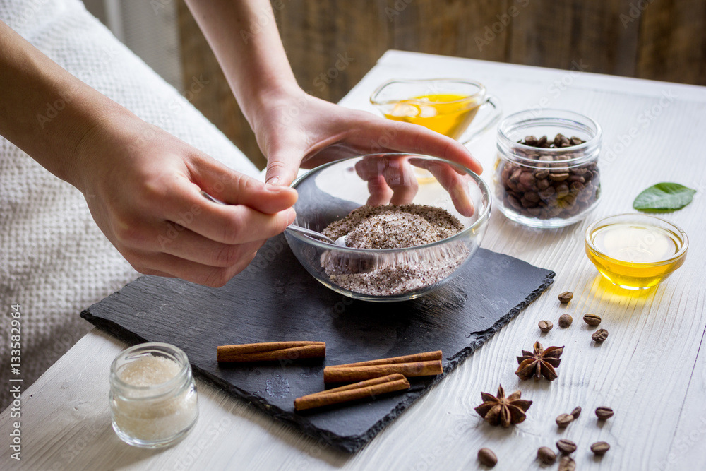
<instances>
[{"instance_id":1,"label":"brown wooden plank wall in the blurred background","mask_svg":"<svg viewBox=\"0 0 706 471\"><path fill-rule=\"evenodd\" d=\"M336 102L387 49L706 85L703 0L273 0L304 90ZM258 167L265 160L215 57L181 2L193 104ZM342 56L352 58L329 73ZM323 76L322 76L323 74ZM334 76L335 75L335 76Z\"/></svg>"}]
</instances>

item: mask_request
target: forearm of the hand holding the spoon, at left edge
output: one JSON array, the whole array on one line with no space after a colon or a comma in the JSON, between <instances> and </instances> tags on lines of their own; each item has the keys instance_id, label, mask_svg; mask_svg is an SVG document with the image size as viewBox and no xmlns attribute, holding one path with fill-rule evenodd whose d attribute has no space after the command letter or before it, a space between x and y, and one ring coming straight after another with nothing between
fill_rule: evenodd
<instances>
[{"instance_id":1,"label":"forearm of the hand holding the spoon, at left edge","mask_svg":"<svg viewBox=\"0 0 706 471\"><path fill-rule=\"evenodd\" d=\"M79 148L90 131L129 114L0 21L0 135L82 189Z\"/></svg>"}]
</instances>

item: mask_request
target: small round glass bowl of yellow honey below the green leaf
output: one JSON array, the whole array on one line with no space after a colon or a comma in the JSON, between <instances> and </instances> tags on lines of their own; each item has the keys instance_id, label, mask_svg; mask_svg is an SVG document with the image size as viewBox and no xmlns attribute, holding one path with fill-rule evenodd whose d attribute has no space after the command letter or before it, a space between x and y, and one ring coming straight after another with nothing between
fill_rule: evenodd
<instances>
[{"instance_id":1,"label":"small round glass bowl of yellow honey below the green leaf","mask_svg":"<svg viewBox=\"0 0 706 471\"><path fill-rule=\"evenodd\" d=\"M628 290L659 285L683 265L688 247L681 228L638 213L604 217L585 235L589 260L607 280Z\"/></svg>"}]
</instances>

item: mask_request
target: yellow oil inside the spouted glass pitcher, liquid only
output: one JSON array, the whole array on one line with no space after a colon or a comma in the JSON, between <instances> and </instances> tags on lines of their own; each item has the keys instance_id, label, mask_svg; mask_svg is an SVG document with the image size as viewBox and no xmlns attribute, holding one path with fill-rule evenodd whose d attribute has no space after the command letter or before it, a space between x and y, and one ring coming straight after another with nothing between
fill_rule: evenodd
<instances>
[{"instance_id":1,"label":"yellow oil inside the spouted glass pitcher, liquid only","mask_svg":"<svg viewBox=\"0 0 706 471\"><path fill-rule=\"evenodd\" d=\"M460 138L480 104L467 95L422 95L395 103L385 118L420 124L444 136Z\"/></svg>"}]
</instances>

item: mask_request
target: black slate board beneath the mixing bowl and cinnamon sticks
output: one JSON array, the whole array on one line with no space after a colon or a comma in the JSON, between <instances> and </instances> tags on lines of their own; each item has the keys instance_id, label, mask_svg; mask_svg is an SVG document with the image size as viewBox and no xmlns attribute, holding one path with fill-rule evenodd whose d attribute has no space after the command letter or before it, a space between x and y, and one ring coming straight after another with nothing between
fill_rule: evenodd
<instances>
[{"instance_id":1,"label":"black slate board beneath the mixing bowl and cinnamon sticks","mask_svg":"<svg viewBox=\"0 0 706 471\"><path fill-rule=\"evenodd\" d=\"M485 249L462 273L420 299L349 299L311 278L284 237L270 239L244 272L216 289L143 276L81 316L130 344L167 342L194 375L336 448L354 452L554 282L554 272ZM216 347L277 340L326 342L325 360L218 364ZM442 350L444 374L405 393L309 413L294 398L323 390L325 365Z\"/></svg>"}]
</instances>

